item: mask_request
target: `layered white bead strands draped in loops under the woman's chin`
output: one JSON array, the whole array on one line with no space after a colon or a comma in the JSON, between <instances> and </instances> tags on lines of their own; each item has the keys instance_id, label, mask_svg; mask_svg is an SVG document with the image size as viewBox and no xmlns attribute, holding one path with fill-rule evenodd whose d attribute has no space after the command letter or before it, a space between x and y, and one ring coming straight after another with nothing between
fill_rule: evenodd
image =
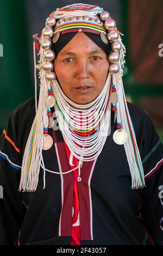
<instances>
[{"instance_id":1,"label":"layered white bead strands draped in loops under the woman's chin","mask_svg":"<svg viewBox=\"0 0 163 256\"><path fill-rule=\"evenodd\" d=\"M72 155L78 160L95 160L103 149L110 125L110 82L111 75L108 74L102 92L86 105L78 105L68 99L57 80L52 82L53 94L57 101L54 108L59 128ZM90 135L96 126L97 130ZM73 131L74 129L78 133ZM85 137L80 135L83 130Z\"/></svg>"}]
</instances>

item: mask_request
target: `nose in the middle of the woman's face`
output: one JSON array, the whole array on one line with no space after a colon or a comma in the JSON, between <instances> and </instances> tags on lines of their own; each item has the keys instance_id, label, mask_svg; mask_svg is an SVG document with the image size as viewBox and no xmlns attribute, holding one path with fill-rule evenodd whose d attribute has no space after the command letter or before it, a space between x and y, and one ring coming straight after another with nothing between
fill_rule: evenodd
<instances>
[{"instance_id":1,"label":"nose in the middle of the woman's face","mask_svg":"<svg viewBox=\"0 0 163 256\"><path fill-rule=\"evenodd\" d=\"M76 78L85 79L90 77L89 64L84 60L76 65Z\"/></svg>"}]
</instances>

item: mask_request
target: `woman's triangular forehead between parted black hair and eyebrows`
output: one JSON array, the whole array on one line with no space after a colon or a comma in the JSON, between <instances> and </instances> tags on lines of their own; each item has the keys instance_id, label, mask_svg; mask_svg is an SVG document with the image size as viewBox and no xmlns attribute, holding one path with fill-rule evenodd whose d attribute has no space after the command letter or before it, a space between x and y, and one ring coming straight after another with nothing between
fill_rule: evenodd
<instances>
[{"instance_id":1,"label":"woman's triangular forehead between parted black hair and eyebrows","mask_svg":"<svg viewBox=\"0 0 163 256\"><path fill-rule=\"evenodd\" d=\"M68 42L60 51L60 54L65 54L66 52L103 52L103 50L95 44L86 34L83 32L78 32L73 38Z\"/></svg>"}]
</instances>

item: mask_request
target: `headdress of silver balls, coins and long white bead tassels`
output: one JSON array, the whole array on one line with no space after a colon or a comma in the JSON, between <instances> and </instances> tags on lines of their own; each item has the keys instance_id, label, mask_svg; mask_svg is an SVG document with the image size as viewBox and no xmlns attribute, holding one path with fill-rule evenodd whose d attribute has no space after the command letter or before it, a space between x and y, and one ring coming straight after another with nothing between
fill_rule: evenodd
<instances>
[{"instance_id":1,"label":"headdress of silver balls, coins and long white bead tassels","mask_svg":"<svg viewBox=\"0 0 163 256\"><path fill-rule=\"evenodd\" d=\"M32 125L32 129L29 133L26 149L24 151L20 190L36 190L39 180L40 166L43 168L44 174L46 171L57 173L45 168L42 157L42 150L44 147L45 138L48 133L48 127L51 127L51 125L49 125L49 120L52 122L51 107L54 106L55 111L57 111L58 113L57 117L59 120L61 120L61 108L59 108L60 98L63 102L66 102L67 104L73 104L73 102L70 101L66 97L66 95L62 95L62 93L60 92L60 87L56 80L57 76L54 72L53 60L55 58L55 52L52 51L51 48L52 43L55 44L55 42L58 41L60 34L71 33L74 31L96 33L101 36L101 39L103 40L103 42L105 42L105 44L108 44L108 40L111 43L111 53L108 56L110 62L108 78L106 80L102 93L97 97L96 101L99 103L102 99L105 99L105 104L108 104L108 112L110 112L109 107L112 104L112 111L115 112L115 120L117 121L117 130L114 132L113 138L115 143L121 145L124 144L124 149L126 151L126 156L131 173L131 187L143 187L145 185L143 167L139 149L136 143L134 127L127 107L122 82L122 68L124 66L125 56L125 47L122 44L121 40L122 34L117 30L116 22L111 19L108 11L104 11L102 8L96 5L72 4L57 9L56 11L53 11L53 13L51 13L51 15L46 20L45 28L43 28L40 37L40 60L39 64L35 65L35 67L39 69L40 75L39 104L37 107L36 103L36 116ZM109 89L111 92L110 97L108 96L108 98L106 98L106 92L108 92ZM78 105L76 105L76 107L78 107ZM92 105L90 103L89 107L93 108L93 103ZM84 105L83 109L85 109ZM110 120L108 112L106 112L106 120ZM84 113L87 114L87 112ZM104 125L102 126L103 129L108 124L109 123L104 123ZM98 139L101 138L100 129L98 132L99 137L97 136L97 143ZM69 142L66 136L67 135L65 134L64 139L68 144ZM101 143L98 143L97 153L95 152L95 150L91 151L93 152L94 156L97 157L101 153L105 140L106 136L101 141ZM76 156L79 161L82 161L82 159L84 159L84 161L91 161L95 159L93 158L93 156L91 156L91 153L89 154L89 151L86 151L85 148L83 148L83 155L81 157L79 156L79 154L76 154L75 150L78 150L79 153L81 153L81 150L75 147L71 139L68 146L70 146L71 153ZM67 172L65 172L64 174L66 173Z\"/></svg>"}]
</instances>

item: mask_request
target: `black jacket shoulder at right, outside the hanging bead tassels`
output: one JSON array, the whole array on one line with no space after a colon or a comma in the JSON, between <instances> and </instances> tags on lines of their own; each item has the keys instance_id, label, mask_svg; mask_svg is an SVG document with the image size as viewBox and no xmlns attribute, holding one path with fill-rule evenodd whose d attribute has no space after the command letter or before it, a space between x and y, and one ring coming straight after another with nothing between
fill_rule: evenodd
<instances>
[{"instance_id":1,"label":"black jacket shoulder at right, outside the hanging bead tassels","mask_svg":"<svg viewBox=\"0 0 163 256\"><path fill-rule=\"evenodd\" d=\"M127 102L127 105L140 151L145 178L147 179L163 163L161 139L148 114L132 103Z\"/></svg>"}]
</instances>

